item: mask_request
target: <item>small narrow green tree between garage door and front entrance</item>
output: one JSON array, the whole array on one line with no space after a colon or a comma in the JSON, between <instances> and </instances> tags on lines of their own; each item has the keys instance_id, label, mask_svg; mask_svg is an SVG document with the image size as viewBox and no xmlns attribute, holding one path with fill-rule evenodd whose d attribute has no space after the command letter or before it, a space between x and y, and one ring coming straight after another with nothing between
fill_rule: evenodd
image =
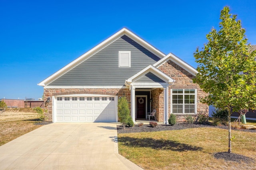
<instances>
[{"instance_id":1,"label":"small narrow green tree between garage door and front entrance","mask_svg":"<svg viewBox=\"0 0 256 170\"><path fill-rule=\"evenodd\" d=\"M118 117L123 127L125 128L130 117L130 109L125 97L122 97L118 100Z\"/></svg>"}]
</instances>

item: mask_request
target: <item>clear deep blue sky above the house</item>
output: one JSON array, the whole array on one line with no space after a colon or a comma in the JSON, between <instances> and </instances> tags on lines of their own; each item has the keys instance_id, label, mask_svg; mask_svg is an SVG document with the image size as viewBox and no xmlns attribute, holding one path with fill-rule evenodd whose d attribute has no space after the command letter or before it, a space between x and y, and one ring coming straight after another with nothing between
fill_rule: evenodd
<instances>
[{"instance_id":1,"label":"clear deep blue sky above the house","mask_svg":"<svg viewBox=\"0 0 256 170\"><path fill-rule=\"evenodd\" d=\"M39 82L123 27L196 68L224 6L256 45L253 0L0 0L0 99L41 98Z\"/></svg>"}]
</instances>

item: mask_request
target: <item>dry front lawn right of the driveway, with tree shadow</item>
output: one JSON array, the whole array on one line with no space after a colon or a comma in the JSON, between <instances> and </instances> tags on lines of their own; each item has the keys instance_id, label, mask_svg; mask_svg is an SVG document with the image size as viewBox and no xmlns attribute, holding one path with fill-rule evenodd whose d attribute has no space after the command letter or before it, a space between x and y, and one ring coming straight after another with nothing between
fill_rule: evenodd
<instances>
[{"instance_id":1,"label":"dry front lawn right of the driveway, with tree shadow","mask_svg":"<svg viewBox=\"0 0 256 170\"><path fill-rule=\"evenodd\" d=\"M232 131L232 151L254 158L256 133ZM256 169L255 162L214 158L228 150L228 131L191 128L174 131L118 134L119 153L146 170L158 169Z\"/></svg>"}]
</instances>

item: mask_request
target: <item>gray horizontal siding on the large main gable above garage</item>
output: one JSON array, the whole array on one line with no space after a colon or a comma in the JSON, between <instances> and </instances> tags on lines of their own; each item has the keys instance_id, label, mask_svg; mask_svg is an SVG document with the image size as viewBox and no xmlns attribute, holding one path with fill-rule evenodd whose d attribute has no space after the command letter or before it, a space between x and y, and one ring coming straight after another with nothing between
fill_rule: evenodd
<instances>
[{"instance_id":1,"label":"gray horizontal siding on the large main gable above garage","mask_svg":"<svg viewBox=\"0 0 256 170\"><path fill-rule=\"evenodd\" d=\"M131 67L119 67L119 51L131 51ZM127 78L159 60L124 35L48 86L123 86Z\"/></svg>"}]
</instances>

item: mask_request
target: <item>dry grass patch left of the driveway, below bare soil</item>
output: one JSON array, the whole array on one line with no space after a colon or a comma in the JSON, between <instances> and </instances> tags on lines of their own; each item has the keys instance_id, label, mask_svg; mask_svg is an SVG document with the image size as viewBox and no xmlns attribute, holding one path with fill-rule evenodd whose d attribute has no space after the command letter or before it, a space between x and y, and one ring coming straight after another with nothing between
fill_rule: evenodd
<instances>
[{"instance_id":1,"label":"dry grass patch left of the driveway, below bare soil","mask_svg":"<svg viewBox=\"0 0 256 170\"><path fill-rule=\"evenodd\" d=\"M0 146L42 126L35 123L34 120L0 122Z\"/></svg>"}]
</instances>

